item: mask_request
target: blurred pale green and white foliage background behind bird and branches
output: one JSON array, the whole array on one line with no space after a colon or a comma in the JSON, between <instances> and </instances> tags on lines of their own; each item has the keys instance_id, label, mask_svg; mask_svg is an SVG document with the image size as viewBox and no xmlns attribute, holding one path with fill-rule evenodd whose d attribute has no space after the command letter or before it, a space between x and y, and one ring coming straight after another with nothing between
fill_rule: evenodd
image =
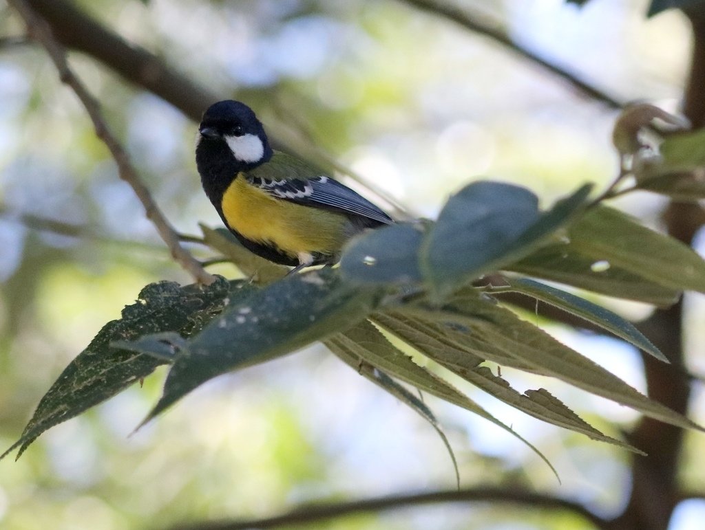
<instances>
[{"instance_id":1,"label":"blurred pale green and white foliage background behind bird and branches","mask_svg":"<svg viewBox=\"0 0 705 530\"><path fill-rule=\"evenodd\" d=\"M577 94L486 37L403 1L91 0L77 3L125 39L223 98L250 103L279 138L324 149L412 212L434 217L462 184L489 176L550 203L617 171L616 111ZM678 108L690 34L678 11L647 20L646 0L467 0L515 42L620 101ZM190 279L118 179L75 95L21 20L0 5L0 443L18 438L39 398L97 330L140 288ZM180 232L220 226L193 160L195 123L91 58L71 55L159 205ZM618 206L658 226L664 199ZM702 241L702 238L699 239ZM702 250L702 245L699 247ZM199 252L195 248L195 252ZM228 277L232 267L212 267ZM602 299L643 319L651 308ZM687 367L705 373L705 306L687 298ZM540 316L529 315L531 318ZM604 336L541 327L645 391L641 358ZM344 367L323 346L204 386L130 435L159 395L164 371L44 434L18 462L0 462L0 526L133 529L208 518L262 517L307 500L452 488L434 431ZM631 410L527 374L599 429L619 436ZM691 417L705 422L694 383ZM558 469L493 425L429 398L460 464L463 486L525 484L623 510L630 455L531 419L458 381ZM612 423L605 422L608 419ZM705 487L705 438L689 432L684 488ZM670 528L699 528L705 502L681 503ZM439 505L335 519L321 529L582 529L568 512Z\"/></svg>"}]
</instances>

